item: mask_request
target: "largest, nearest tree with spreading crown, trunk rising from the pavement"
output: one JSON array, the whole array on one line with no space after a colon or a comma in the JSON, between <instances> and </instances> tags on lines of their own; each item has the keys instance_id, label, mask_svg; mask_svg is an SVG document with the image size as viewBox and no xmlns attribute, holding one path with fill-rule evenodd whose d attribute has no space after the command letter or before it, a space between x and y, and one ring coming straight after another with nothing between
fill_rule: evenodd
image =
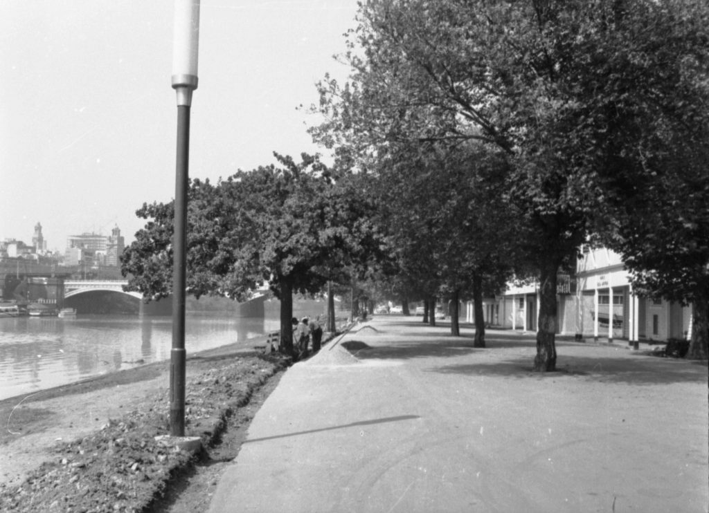
<instances>
[{"instance_id":1,"label":"largest, nearest tree with spreading crown, trunk rising from the pavement","mask_svg":"<svg viewBox=\"0 0 709 513\"><path fill-rule=\"evenodd\" d=\"M676 80L651 57L670 35L661 62L703 73L706 9L693 0L372 0L345 56L352 80L321 84L328 119L313 132L341 144L340 158L371 160L401 139L479 140L506 152L540 281L534 367L552 371L557 272L605 202L609 164L642 163L636 134L659 126L648 117L664 112L670 131L690 120L682 102L696 105L696 91L674 97Z\"/></svg>"}]
</instances>

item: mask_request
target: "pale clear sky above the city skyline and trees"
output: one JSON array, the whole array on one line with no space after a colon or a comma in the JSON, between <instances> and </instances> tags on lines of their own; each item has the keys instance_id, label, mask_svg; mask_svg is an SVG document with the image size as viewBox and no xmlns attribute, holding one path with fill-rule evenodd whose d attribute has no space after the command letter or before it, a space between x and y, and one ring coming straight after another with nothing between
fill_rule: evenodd
<instances>
[{"instance_id":1,"label":"pale clear sky above the city skyline and trees","mask_svg":"<svg viewBox=\"0 0 709 513\"><path fill-rule=\"evenodd\" d=\"M327 154L306 132L316 81L342 80L356 0L201 0L191 178ZM0 1L0 240L126 243L174 197L172 0Z\"/></svg>"}]
</instances>

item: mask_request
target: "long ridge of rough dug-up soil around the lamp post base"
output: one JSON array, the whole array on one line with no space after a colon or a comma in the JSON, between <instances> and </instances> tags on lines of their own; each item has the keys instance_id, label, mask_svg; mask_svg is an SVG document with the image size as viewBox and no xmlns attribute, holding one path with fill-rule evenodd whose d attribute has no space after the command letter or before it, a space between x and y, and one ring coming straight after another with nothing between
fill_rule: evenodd
<instances>
[{"instance_id":1,"label":"long ridge of rough dug-up soil around the lamp post base","mask_svg":"<svg viewBox=\"0 0 709 513\"><path fill-rule=\"evenodd\" d=\"M198 369L186 383L185 434L201 437L209 448L218 444L235 410L289 360L252 354L189 364ZM169 389L131 407L136 409L108 420L96 432L58 443L23 483L0 484L0 511L150 510L169 481L199 456L160 440L169 434Z\"/></svg>"}]
</instances>

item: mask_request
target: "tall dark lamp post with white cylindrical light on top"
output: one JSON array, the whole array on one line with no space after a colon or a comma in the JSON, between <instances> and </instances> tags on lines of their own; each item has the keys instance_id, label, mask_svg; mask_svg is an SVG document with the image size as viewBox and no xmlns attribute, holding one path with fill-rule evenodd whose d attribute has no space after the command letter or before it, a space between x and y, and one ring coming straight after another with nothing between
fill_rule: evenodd
<instances>
[{"instance_id":1,"label":"tall dark lamp post with white cylindrical light on top","mask_svg":"<svg viewBox=\"0 0 709 513\"><path fill-rule=\"evenodd\" d=\"M189 112L197 88L199 0L175 0L172 88L177 92L177 164L173 221L172 350L170 352L170 434L184 437L184 305L186 294Z\"/></svg>"}]
</instances>

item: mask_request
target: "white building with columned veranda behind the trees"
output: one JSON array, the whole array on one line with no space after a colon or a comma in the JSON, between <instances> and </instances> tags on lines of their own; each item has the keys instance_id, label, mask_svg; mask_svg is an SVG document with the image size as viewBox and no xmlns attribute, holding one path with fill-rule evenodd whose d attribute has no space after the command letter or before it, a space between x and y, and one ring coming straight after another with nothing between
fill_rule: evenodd
<instances>
[{"instance_id":1,"label":"white building with columned veranda behind the trees","mask_svg":"<svg viewBox=\"0 0 709 513\"><path fill-rule=\"evenodd\" d=\"M559 280L557 287L559 335L578 339L665 341L691 336L691 307L632 294L630 275L620 255L607 248L585 248L576 263L576 279ZM513 330L536 331L539 315L537 284L511 287L501 296L485 299L486 324ZM473 306L467 305L473 322Z\"/></svg>"}]
</instances>

